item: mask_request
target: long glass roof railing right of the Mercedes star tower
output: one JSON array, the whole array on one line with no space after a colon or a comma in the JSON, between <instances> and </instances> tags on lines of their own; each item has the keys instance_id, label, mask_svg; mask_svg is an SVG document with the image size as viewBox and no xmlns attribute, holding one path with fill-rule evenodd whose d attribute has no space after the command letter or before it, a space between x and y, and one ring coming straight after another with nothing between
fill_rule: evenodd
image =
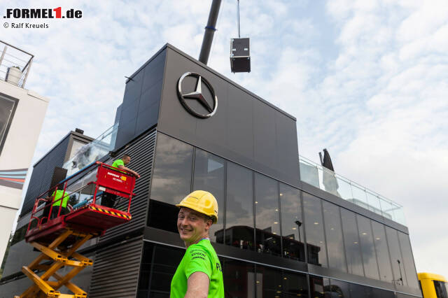
<instances>
[{"instance_id":1,"label":"long glass roof railing right of the Mercedes star tower","mask_svg":"<svg viewBox=\"0 0 448 298\"><path fill-rule=\"evenodd\" d=\"M337 173L299 156L300 180L315 187L335 194L337 197L351 201L367 210L384 216L401 225L406 225L403 208L390 199L386 199L372 190L359 185Z\"/></svg>"}]
</instances>

